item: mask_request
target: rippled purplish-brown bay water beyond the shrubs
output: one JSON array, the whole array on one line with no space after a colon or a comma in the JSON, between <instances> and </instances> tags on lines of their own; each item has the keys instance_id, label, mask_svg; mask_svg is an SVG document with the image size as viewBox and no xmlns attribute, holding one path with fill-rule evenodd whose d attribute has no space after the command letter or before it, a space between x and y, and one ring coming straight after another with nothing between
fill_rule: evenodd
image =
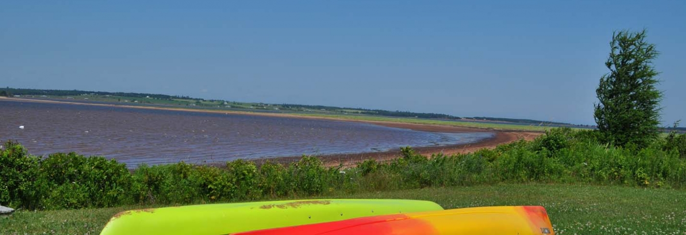
<instances>
[{"instance_id":1,"label":"rippled purplish-brown bay water beyond the shrubs","mask_svg":"<svg viewBox=\"0 0 686 235\"><path fill-rule=\"evenodd\" d=\"M473 143L492 136L343 121L0 101L0 140L18 140L34 155L76 151L129 166L364 153Z\"/></svg>"}]
</instances>

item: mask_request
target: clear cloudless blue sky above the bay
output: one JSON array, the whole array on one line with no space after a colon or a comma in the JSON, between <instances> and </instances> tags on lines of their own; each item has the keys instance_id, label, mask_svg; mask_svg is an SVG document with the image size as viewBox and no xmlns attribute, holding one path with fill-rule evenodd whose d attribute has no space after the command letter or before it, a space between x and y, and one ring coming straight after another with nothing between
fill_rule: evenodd
<instances>
[{"instance_id":1,"label":"clear cloudless blue sky above the bay","mask_svg":"<svg viewBox=\"0 0 686 235\"><path fill-rule=\"evenodd\" d=\"M671 125L686 1L5 0L0 86L593 124L613 31L643 28Z\"/></svg>"}]
</instances>

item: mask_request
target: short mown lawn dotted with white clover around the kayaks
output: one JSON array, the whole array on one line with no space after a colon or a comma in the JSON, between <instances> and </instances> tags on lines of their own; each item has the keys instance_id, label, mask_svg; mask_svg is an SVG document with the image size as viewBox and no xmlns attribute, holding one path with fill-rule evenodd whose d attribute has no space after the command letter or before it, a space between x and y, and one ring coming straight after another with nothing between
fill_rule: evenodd
<instances>
[{"instance_id":1,"label":"short mown lawn dotted with white clover around the kayaks","mask_svg":"<svg viewBox=\"0 0 686 235\"><path fill-rule=\"evenodd\" d=\"M686 190L562 184L498 184L448 188L333 193L328 198L436 201L444 208L545 206L556 234L686 234ZM0 218L0 234L98 234L128 206L16 212Z\"/></svg>"}]
</instances>

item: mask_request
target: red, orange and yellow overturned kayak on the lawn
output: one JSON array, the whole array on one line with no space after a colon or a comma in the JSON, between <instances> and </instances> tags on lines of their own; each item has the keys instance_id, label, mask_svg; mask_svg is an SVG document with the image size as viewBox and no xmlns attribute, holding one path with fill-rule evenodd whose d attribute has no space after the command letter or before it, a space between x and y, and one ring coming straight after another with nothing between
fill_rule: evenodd
<instances>
[{"instance_id":1,"label":"red, orange and yellow overturned kayak on the lawn","mask_svg":"<svg viewBox=\"0 0 686 235\"><path fill-rule=\"evenodd\" d=\"M497 206L390 214L237 234L552 235L554 232L541 206Z\"/></svg>"}]
</instances>

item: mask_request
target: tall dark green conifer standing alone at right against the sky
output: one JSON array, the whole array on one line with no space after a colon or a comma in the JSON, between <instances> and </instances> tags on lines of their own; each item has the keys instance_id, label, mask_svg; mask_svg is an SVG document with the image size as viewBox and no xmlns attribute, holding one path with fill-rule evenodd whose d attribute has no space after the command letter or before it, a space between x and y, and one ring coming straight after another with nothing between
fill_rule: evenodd
<instances>
[{"instance_id":1,"label":"tall dark green conifer standing alone at right against the sky","mask_svg":"<svg viewBox=\"0 0 686 235\"><path fill-rule=\"evenodd\" d=\"M615 32L605 66L595 90L595 123L607 143L646 147L658 137L662 92L655 87L659 72L652 60L659 52L646 42L646 30Z\"/></svg>"}]
</instances>

